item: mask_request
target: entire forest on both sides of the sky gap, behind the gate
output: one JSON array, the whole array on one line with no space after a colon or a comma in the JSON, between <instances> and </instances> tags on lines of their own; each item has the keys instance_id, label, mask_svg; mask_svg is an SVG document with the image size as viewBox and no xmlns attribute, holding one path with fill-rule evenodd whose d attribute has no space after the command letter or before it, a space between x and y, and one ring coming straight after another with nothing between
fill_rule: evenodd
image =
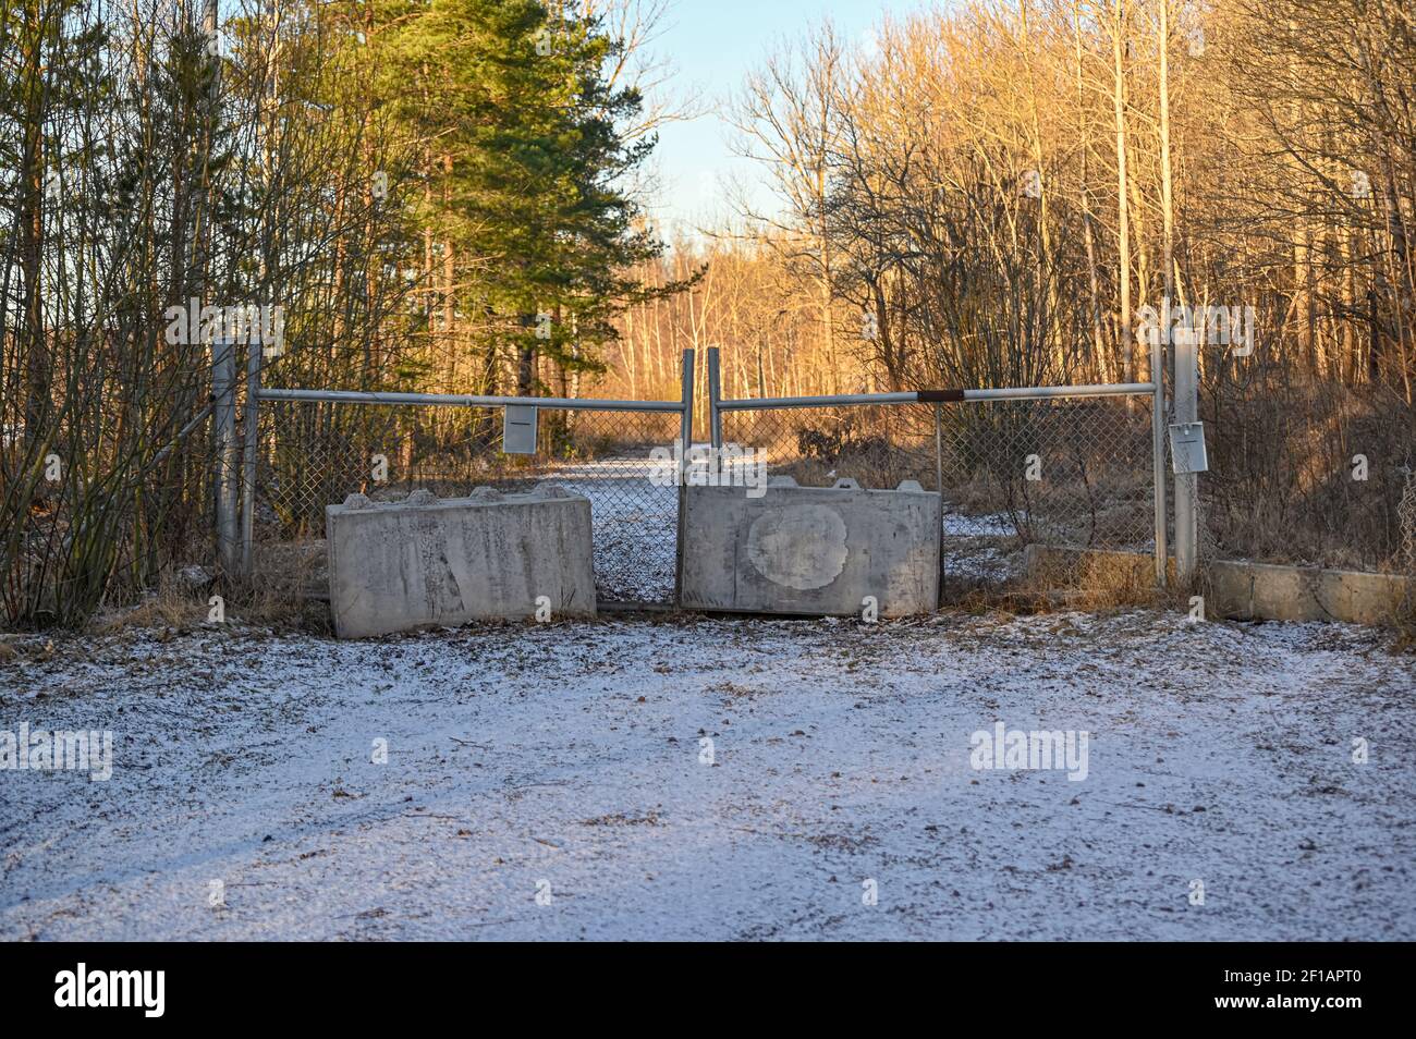
<instances>
[{"instance_id":1,"label":"entire forest on both sides of the sky gap, behind the gate","mask_svg":"<svg viewBox=\"0 0 1416 1039\"><path fill-rule=\"evenodd\" d=\"M270 385L634 398L708 345L728 396L1143 381L1146 307L1249 307L1252 355L1201 351L1216 546L1391 566L1412 536L1399 0L803 24L718 85L779 207L667 231L661 0L0 10L11 621L210 558L210 352L164 335L191 299L283 307Z\"/></svg>"}]
</instances>

